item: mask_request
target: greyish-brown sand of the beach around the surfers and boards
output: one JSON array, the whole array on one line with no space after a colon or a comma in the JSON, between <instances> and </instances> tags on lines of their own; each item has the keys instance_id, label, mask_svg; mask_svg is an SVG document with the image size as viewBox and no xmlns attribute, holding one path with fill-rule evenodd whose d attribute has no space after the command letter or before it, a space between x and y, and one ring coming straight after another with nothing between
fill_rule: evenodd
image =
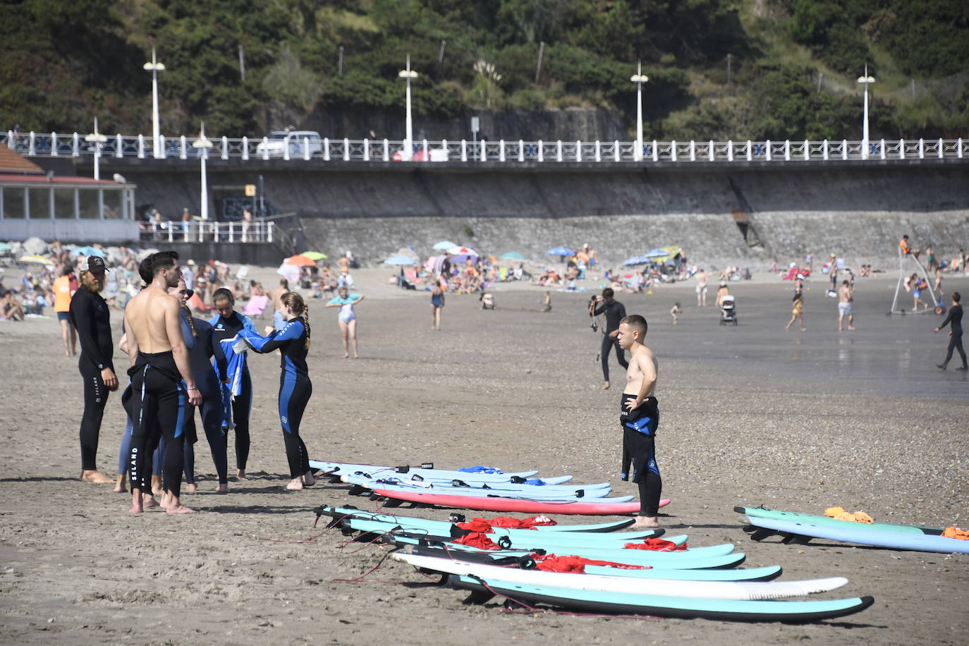
<instances>
[{"instance_id":1,"label":"greyish-brown sand of the beach around the surfers and boards","mask_svg":"<svg viewBox=\"0 0 969 646\"><path fill-rule=\"evenodd\" d=\"M615 385L623 375L613 359L614 387L599 390L600 337L585 313L590 292L552 292L549 314L539 311L539 288L501 286L496 311L480 310L474 296L450 295L444 329L433 332L429 295L393 290L386 275L359 274L367 294L358 306L359 360L340 358L335 311L311 303L314 395L302 435L314 458L534 467L635 493L618 478ZM275 283L271 274L263 280ZM847 576L848 586L823 598L873 595L875 605L860 614L803 626L503 615L495 604L463 606L464 593L431 587L393 562L362 583L338 582L385 552L341 549L336 531L310 542L266 540L319 535L312 509L321 504L373 508L344 485L283 489L275 355L251 361L251 477L215 494L202 439L200 490L183 496L200 513L133 516L126 494L75 479L77 360L63 356L55 320L35 320L0 323L3 641L964 643L969 556L758 543L733 511L763 504L820 513L839 505L889 522L969 524L969 380L953 371L957 359L946 373L935 368L946 347L944 335L931 332L939 320L885 316L894 281L860 279L858 331L839 334L826 286L810 284L806 332L784 331L790 285L773 278L732 285L737 327L718 325L713 307L696 308L692 285L619 300L646 316L647 342L660 360L657 451L664 496L673 499L663 524L688 533L691 545L735 542L747 567L778 564L784 578ZM969 279L947 279L946 289L969 293ZM675 300L685 312L674 327ZM112 322L116 342L119 313ZM115 352L114 360L122 370L125 358ZM99 449L110 476L124 429L119 399L111 395Z\"/></svg>"}]
</instances>

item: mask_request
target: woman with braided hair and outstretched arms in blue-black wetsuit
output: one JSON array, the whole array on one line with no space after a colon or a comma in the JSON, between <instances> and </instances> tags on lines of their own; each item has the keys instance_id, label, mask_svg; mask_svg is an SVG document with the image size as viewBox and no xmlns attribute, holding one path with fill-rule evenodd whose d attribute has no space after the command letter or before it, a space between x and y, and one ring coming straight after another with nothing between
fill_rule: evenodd
<instances>
[{"instance_id":1,"label":"woman with braided hair and outstretched arms in blue-black wetsuit","mask_svg":"<svg viewBox=\"0 0 969 646\"><path fill-rule=\"evenodd\" d=\"M289 292L280 299L280 313L286 320L281 330L266 326L266 336L247 329L239 331L239 339L257 353L279 350L282 355L282 372L279 375L279 421L283 426L283 442L286 458L290 463L290 480L287 489L298 490L312 485L313 472L309 468L309 454L299 437L299 422L306 404L313 394L309 380L306 353L309 350L309 313L302 296Z\"/></svg>"}]
</instances>

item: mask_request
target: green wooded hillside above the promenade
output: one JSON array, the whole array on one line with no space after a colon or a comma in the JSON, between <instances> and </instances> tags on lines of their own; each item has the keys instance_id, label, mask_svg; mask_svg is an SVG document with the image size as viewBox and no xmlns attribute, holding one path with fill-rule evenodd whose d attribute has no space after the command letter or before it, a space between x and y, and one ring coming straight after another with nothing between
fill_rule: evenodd
<instances>
[{"instance_id":1,"label":"green wooded hillside above the promenade","mask_svg":"<svg viewBox=\"0 0 969 646\"><path fill-rule=\"evenodd\" d=\"M969 137L964 0L0 0L0 128L150 132L152 45L169 133L399 110L410 54L418 114L630 124L641 60L649 132L676 139L857 138L867 62L872 138Z\"/></svg>"}]
</instances>

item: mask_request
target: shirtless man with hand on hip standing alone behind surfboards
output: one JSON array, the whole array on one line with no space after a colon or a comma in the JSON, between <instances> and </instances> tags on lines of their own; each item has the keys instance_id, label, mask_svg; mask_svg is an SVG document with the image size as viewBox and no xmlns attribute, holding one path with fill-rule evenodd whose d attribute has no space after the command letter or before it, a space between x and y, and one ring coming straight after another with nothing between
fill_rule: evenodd
<instances>
[{"instance_id":1,"label":"shirtless man with hand on hip standing alone behind surfboards","mask_svg":"<svg viewBox=\"0 0 969 646\"><path fill-rule=\"evenodd\" d=\"M659 376L659 363L642 344L646 336L646 320L639 314L624 317L619 322L619 347L632 356L626 369L626 387L622 391L619 423L622 424L622 479L640 485L640 513L635 529L656 528L659 522L660 493L663 480L656 466L656 430L660 423L659 403L653 392Z\"/></svg>"}]
</instances>

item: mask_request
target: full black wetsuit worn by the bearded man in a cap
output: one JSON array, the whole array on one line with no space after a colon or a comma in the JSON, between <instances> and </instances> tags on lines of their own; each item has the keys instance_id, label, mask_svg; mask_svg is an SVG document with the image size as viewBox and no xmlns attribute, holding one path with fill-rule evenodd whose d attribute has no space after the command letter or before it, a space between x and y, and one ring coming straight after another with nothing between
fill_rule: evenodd
<instances>
[{"instance_id":1,"label":"full black wetsuit worn by the bearded man in a cap","mask_svg":"<svg viewBox=\"0 0 969 646\"><path fill-rule=\"evenodd\" d=\"M101 378L105 368L114 370L111 355L111 321L108 303L101 294L81 286L71 299L71 323L78 329L78 370L84 380L84 413L80 417L80 468L97 469L101 419L108 403L108 386Z\"/></svg>"}]
</instances>

